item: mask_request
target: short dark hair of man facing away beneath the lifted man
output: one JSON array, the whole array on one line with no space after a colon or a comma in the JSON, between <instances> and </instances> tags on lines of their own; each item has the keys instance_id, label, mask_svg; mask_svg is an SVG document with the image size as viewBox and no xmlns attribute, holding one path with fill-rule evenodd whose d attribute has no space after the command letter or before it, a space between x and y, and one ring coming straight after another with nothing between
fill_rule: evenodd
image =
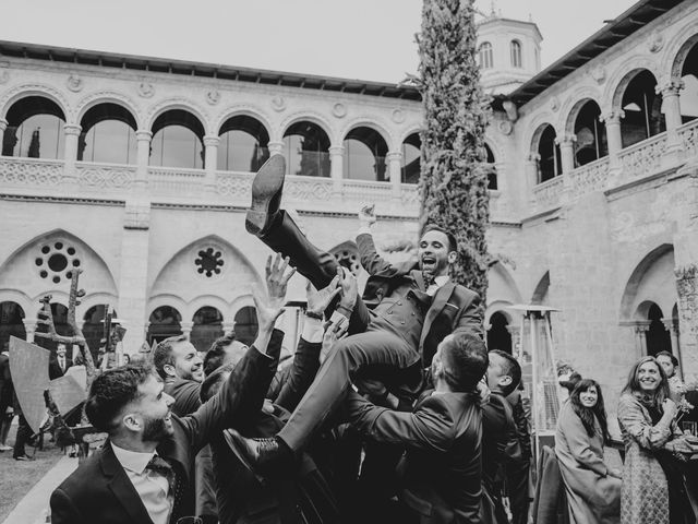
<instances>
[{"instance_id":1,"label":"short dark hair of man facing away beneath the lifted man","mask_svg":"<svg viewBox=\"0 0 698 524\"><path fill-rule=\"evenodd\" d=\"M488 348L478 335L458 333L442 342L444 379L453 391L473 392L488 370Z\"/></svg>"}]
</instances>

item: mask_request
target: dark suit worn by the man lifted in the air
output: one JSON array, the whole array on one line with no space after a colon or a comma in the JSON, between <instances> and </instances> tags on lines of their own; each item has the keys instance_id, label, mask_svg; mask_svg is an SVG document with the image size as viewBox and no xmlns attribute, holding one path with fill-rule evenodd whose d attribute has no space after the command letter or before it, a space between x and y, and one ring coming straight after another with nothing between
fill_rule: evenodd
<instances>
[{"instance_id":1,"label":"dark suit worn by the man lifted in the air","mask_svg":"<svg viewBox=\"0 0 698 524\"><path fill-rule=\"evenodd\" d=\"M334 255L310 243L284 211L261 238L275 251L290 257L291 265L318 289L337 274ZM371 235L360 235L357 245L361 263L371 274L369 289L376 291L380 301L369 311L358 300L350 323L353 334L335 345L279 432L279 438L294 451L303 449L335 412L354 373L372 373L398 397L413 400L422 389L422 369L446 335L459 331L482 333L480 298L476 293L448 282L430 297L422 272L414 270L414 264L398 267L387 263L376 253Z\"/></svg>"}]
</instances>

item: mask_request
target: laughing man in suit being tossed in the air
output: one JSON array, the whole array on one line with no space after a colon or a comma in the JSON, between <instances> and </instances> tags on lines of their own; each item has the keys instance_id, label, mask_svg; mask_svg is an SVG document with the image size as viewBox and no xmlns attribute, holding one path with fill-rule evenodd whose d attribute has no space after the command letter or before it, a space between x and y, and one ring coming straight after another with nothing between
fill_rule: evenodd
<instances>
[{"instance_id":1,"label":"laughing man in suit being tossed in the air","mask_svg":"<svg viewBox=\"0 0 698 524\"><path fill-rule=\"evenodd\" d=\"M275 155L262 166L252 184L252 207L246 228L273 250L287 255L298 272L321 289L337 274L334 255L308 241L290 216L279 210L285 159ZM244 439L228 432L229 444L251 468L298 455L311 437L336 410L359 372L380 379L387 390L411 404L423 388L423 370L438 344L452 333L482 336L479 296L448 277L457 259L452 234L426 227L419 242L418 260L395 266L375 250L369 227L375 217L360 214L363 231L357 238L361 264L371 275L364 299L377 301L371 311L358 299L351 311L350 336L338 341L288 424L275 439ZM365 326L362 331L361 327ZM362 332L360 332L362 331Z\"/></svg>"}]
</instances>

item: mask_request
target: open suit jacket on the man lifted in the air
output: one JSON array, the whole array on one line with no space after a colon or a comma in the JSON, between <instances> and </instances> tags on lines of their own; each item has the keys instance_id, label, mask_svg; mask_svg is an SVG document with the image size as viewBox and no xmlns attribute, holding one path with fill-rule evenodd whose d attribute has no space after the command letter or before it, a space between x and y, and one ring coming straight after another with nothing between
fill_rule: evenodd
<instances>
[{"instance_id":1,"label":"open suit jacket on the man lifted in the air","mask_svg":"<svg viewBox=\"0 0 698 524\"><path fill-rule=\"evenodd\" d=\"M393 265L381 258L373 243L373 237L361 234L357 237L361 265L371 275L363 295L366 305L377 303L390 297L401 286L426 291L422 272L416 262ZM446 335L467 332L482 336L482 309L477 293L448 281L434 295L424 317L419 353L426 366L436 353L436 346Z\"/></svg>"}]
</instances>

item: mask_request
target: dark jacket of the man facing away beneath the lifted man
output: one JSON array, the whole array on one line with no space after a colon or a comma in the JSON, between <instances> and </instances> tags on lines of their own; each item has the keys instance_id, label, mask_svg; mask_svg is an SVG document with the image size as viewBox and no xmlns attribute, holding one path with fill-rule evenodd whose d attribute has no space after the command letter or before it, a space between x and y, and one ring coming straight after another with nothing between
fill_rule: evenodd
<instances>
[{"instance_id":1,"label":"dark jacket of the man facing away beneath the lifted man","mask_svg":"<svg viewBox=\"0 0 698 524\"><path fill-rule=\"evenodd\" d=\"M421 523L480 523L482 412L476 395L424 395L413 413L377 407L351 391L349 420L377 442L402 444L402 502Z\"/></svg>"}]
</instances>

